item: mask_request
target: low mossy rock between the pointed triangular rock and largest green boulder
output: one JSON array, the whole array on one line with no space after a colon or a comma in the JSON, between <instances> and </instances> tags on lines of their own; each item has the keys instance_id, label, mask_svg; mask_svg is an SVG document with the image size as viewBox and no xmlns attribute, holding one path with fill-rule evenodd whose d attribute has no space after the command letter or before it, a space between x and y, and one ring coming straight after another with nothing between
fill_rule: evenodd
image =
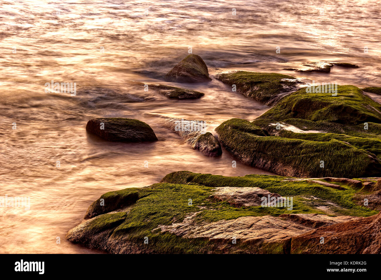
<instances>
[{"instance_id":1,"label":"low mossy rock between the pointed triangular rock and largest green boulder","mask_svg":"<svg viewBox=\"0 0 381 280\"><path fill-rule=\"evenodd\" d=\"M237 91L256 101L271 105L283 96L296 90L301 81L277 73L235 71L215 75L217 80L237 87Z\"/></svg>"}]
</instances>

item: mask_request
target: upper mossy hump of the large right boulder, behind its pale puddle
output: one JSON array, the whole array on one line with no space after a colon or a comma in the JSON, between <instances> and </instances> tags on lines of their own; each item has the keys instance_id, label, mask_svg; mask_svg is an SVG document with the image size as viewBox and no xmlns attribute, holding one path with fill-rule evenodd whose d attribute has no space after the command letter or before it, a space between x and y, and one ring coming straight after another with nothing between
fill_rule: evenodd
<instances>
[{"instance_id":1,"label":"upper mossy hump of the large right boulder, behind its pale puddle","mask_svg":"<svg viewBox=\"0 0 381 280\"><path fill-rule=\"evenodd\" d=\"M262 128L265 123L279 122L302 130L379 137L375 135L381 132L381 104L356 86L338 86L336 96L306 91L307 88L301 88L285 96L254 123ZM368 130L364 130L364 123L368 123Z\"/></svg>"}]
</instances>

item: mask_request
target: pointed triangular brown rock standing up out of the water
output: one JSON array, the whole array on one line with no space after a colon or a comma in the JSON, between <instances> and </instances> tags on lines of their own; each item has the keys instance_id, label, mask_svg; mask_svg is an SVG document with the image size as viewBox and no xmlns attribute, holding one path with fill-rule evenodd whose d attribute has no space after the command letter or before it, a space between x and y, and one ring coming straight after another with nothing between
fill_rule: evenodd
<instances>
[{"instance_id":1,"label":"pointed triangular brown rock standing up out of the water","mask_svg":"<svg viewBox=\"0 0 381 280\"><path fill-rule=\"evenodd\" d=\"M165 76L168 82L202 83L211 81L208 67L196 54L189 54Z\"/></svg>"}]
</instances>

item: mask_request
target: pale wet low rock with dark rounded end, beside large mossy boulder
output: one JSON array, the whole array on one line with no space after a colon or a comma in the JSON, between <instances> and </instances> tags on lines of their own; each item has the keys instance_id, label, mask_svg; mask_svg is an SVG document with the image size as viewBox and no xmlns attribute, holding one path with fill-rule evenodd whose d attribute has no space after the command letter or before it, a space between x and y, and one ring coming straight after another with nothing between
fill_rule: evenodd
<instances>
[{"instance_id":1,"label":"pale wet low rock with dark rounded end, beside large mossy boulder","mask_svg":"<svg viewBox=\"0 0 381 280\"><path fill-rule=\"evenodd\" d=\"M221 144L207 130L206 122L202 120L184 120L179 118L167 118L166 126L177 133L181 138L208 157L216 157L222 154Z\"/></svg>"}]
</instances>

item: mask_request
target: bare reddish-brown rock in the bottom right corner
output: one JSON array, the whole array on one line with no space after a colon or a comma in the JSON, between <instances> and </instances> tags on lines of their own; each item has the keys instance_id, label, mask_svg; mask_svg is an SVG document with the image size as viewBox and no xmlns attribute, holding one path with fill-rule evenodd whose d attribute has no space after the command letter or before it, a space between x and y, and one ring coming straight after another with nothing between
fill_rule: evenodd
<instances>
[{"instance_id":1,"label":"bare reddish-brown rock in the bottom right corner","mask_svg":"<svg viewBox=\"0 0 381 280\"><path fill-rule=\"evenodd\" d=\"M324 243L319 241L324 238ZM291 254L379 254L381 214L320 227L293 237Z\"/></svg>"}]
</instances>

